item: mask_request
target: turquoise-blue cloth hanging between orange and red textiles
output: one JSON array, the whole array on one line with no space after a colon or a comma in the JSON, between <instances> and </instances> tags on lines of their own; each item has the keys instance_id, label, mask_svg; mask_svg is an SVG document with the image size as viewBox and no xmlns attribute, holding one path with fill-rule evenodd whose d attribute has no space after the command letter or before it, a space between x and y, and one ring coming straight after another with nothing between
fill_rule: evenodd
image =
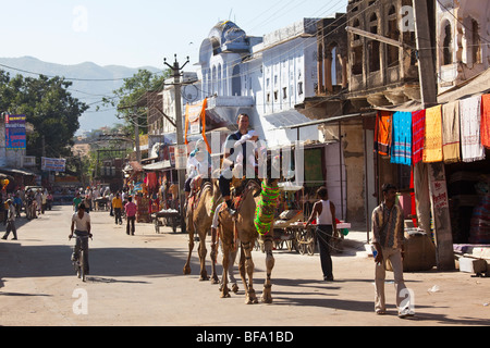
<instances>
[{"instance_id":1,"label":"turquoise-blue cloth hanging between orange and red textiles","mask_svg":"<svg viewBox=\"0 0 490 348\"><path fill-rule=\"evenodd\" d=\"M412 165L412 112L393 114L391 163Z\"/></svg>"}]
</instances>

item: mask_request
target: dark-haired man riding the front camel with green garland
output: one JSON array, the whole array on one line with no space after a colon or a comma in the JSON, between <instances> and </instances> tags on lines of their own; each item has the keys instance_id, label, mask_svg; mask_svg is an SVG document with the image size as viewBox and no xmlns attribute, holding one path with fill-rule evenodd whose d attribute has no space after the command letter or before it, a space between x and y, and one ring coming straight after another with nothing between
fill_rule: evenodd
<instances>
[{"instance_id":1,"label":"dark-haired man riding the front camel with green garland","mask_svg":"<svg viewBox=\"0 0 490 348\"><path fill-rule=\"evenodd\" d=\"M233 166L242 165L242 170L240 172L244 172L247 163L247 141L240 141L243 137L249 136L249 140L257 141L258 137L255 134L248 134L248 126L250 124L249 117L247 114L243 113L238 115L237 119L238 132L231 134L224 144L224 159L223 159L223 170L221 172L219 178L219 185L221 195L226 203L229 213L233 216L236 214L233 202L230 197L230 184L232 182L232 177L236 171L234 171ZM245 138L245 140L248 137ZM241 163L238 163L237 160ZM255 173L254 173L255 174ZM243 176L243 175L242 175Z\"/></svg>"}]
</instances>

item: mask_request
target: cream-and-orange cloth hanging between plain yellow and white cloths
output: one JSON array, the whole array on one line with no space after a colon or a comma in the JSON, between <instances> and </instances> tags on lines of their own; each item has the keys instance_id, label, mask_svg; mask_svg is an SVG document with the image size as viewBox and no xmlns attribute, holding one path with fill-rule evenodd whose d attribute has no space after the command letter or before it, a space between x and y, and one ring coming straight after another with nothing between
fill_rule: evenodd
<instances>
[{"instance_id":1,"label":"cream-and-orange cloth hanging between plain yellow and white cloths","mask_svg":"<svg viewBox=\"0 0 490 348\"><path fill-rule=\"evenodd\" d=\"M442 105L442 153L444 163L461 161L458 101Z\"/></svg>"}]
</instances>

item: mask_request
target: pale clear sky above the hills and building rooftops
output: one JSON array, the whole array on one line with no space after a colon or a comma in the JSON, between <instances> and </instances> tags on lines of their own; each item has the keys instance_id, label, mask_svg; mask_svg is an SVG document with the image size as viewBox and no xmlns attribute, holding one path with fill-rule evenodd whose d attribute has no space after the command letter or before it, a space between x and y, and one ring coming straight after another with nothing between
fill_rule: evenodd
<instances>
[{"instance_id":1,"label":"pale clear sky above the hills and building rooftops","mask_svg":"<svg viewBox=\"0 0 490 348\"><path fill-rule=\"evenodd\" d=\"M59 64L163 67L163 58L197 62L218 21L262 36L302 17L345 12L347 0L0 0L0 57ZM176 4L177 7L173 5Z\"/></svg>"}]
</instances>

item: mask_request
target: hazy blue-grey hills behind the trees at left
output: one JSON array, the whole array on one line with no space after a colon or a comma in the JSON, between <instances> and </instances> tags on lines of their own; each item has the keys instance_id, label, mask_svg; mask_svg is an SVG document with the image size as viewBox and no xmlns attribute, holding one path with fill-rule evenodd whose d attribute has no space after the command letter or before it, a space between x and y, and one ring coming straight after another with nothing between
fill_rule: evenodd
<instances>
[{"instance_id":1,"label":"hazy blue-grey hills behind the trees at left","mask_svg":"<svg viewBox=\"0 0 490 348\"><path fill-rule=\"evenodd\" d=\"M152 66L138 69L121 65L100 66L91 62L62 65L44 62L34 57L0 58L0 64L4 65L0 65L0 70L9 72L12 76L21 74L23 76L37 77L37 74L44 74L74 79L72 87L70 87L73 97L90 105L90 109L79 119L81 128L78 134L84 130L98 129L105 126L110 127L121 123L115 117L117 112L113 108L102 107L99 102L103 97L112 97L112 91L123 85L123 78L132 77L140 69L146 69L152 73L161 72L161 70ZM100 105L100 111L96 111L97 105Z\"/></svg>"}]
</instances>

